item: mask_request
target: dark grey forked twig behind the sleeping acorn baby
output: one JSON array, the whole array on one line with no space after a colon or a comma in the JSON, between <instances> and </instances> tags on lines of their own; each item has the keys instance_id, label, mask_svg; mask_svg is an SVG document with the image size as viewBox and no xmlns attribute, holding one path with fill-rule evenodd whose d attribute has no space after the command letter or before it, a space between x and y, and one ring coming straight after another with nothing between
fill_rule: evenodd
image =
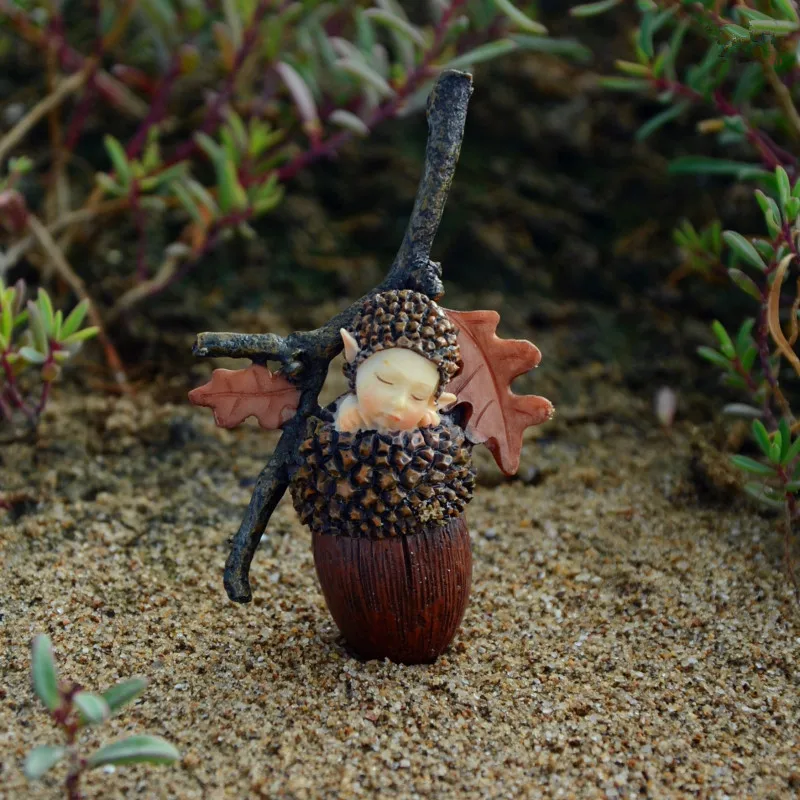
<instances>
[{"instance_id":1,"label":"dark grey forked twig behind the sleeping acorn baby","mask_svg":"<svg viewBox=\"0 0 800 800\"><path fill-rule=\"evenodd\" d=\"M428 99L428 143L425 165L403 242L386 279L365 297L326 325L289 336L274 334L201 333L193 352L200 357L250 358L255 363L278 361L282 373L300 389L300 405L269 462L256 480L250 504L233 537L225 565L225 590L237 603L252 599L250 564L261 535L289 486L297 449L305 436L306 421L319 412L319 393L328 365L342 349L339 329L348 327L364 300L389 289L414 289L439 299L444 294L441 267L430 260L431 247L455 174L464 136L472 76L446 70Z\"/></svg>"}]
</instances>

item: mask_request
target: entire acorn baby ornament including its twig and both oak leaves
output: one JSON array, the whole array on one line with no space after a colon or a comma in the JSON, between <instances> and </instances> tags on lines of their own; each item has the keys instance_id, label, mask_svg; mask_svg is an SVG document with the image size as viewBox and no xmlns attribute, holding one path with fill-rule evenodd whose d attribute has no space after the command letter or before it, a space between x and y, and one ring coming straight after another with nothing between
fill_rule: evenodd
<instances>
[{"instance_id":1,"label":"entire acorn baby ornament including its twig and both oak leaves","mask_svg":"<svg viewBox=\"0 0 800 800\"><path fill-rule=\"evenodd\" d=\"M472 580L466 508L472 448L485 444L508 475L526 427L553 414L548 400L511 382L541 358L530 342L502 340L493 311L438 304L441 267L429 258L463 136L471 76L446 71L428 101L425 170L386 280L330 323L286 337L203 333L199 356L250 358L215 370L190 393L232 427L256 416L281 439L256 481L225 567L228 596L252 599L250 564L289 489L311 530L328 609L361 658L430 663L463 618ZM349 391L318 397L342 350ZM280 369L271 372L268 361Z\"/></svg>"}]
</instances>

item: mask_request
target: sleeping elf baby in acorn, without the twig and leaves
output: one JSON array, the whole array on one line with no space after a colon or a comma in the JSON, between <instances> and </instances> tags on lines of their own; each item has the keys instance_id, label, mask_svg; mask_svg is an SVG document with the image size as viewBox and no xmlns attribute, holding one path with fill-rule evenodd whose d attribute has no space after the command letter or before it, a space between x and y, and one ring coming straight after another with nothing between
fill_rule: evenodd
<instances>
[{"instance_id":1,"label":"sleeping elf baby in acorn, without the twig and leaves","mask_svg":"<svg viewBox=\"0 0 800 800\"><path fill-rule=\"evenodd\" d=\"M439 408L460 367L455 328L408 289L341 330L351 392L311 419L292 499L312 531L328 608L363 658L418 663L450 644L472 575L463 511L475 473Z\"/></svg>"}]
</instances>

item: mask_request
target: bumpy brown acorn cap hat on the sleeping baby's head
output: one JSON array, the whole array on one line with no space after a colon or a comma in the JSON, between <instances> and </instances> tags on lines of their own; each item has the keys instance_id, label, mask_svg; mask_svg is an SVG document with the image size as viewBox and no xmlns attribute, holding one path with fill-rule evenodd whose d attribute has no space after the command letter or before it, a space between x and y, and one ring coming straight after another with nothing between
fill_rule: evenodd
<instances>
[{"instance_id":1,"label":"bumpy brown acorn cap hat on the sleeping baby's head","mask_svg":"<svg viewBox=\"0 0 800 800\"><path fill-rule=\"evenodd\" d=\"M374 353L392 347L419 353L436 365L437 398L461 367L453 323L430 297L411 289L391 289L368 298L349 330L358 342L358 354L344 366L353 392L359 365Z\"/></svg>"}]
</instances>

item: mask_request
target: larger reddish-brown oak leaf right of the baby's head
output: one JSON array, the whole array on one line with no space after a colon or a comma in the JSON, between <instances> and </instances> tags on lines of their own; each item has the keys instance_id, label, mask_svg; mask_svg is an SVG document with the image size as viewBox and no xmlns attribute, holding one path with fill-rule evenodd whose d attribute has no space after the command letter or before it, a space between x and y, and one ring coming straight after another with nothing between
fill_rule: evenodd
<instances>
[{"instance_id":1,"label":"larger reddish-brown oak leaf right of the baby's head","mask_svg":"<svg viewBox=\"0 0 800 800\"><path fill-rule=\"evenodd\" d=\"M445 313L458 328L463 366L447 385L459 403L470 406L466 433L484 443L506 475L519 469L522 434L553 416L553 405L544 397L519 395L511 382L533 369L542 358L539 349L524 339L500 339L495 330L496 311Z\"/></svg>"}]
</instances>

